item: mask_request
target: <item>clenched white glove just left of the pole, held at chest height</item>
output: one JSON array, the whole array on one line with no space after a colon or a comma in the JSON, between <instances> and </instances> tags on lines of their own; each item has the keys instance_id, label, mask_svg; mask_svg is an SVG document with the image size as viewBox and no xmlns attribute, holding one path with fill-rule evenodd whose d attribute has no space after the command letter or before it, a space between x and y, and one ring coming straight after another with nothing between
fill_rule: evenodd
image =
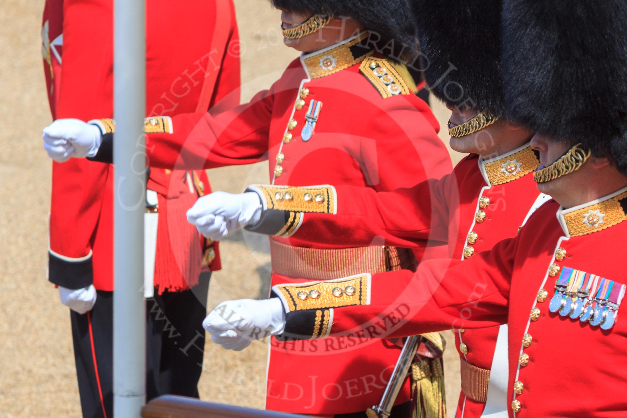
<instances>
[{"instance_id":1,"label":"clenched white glove just left of the pole, held at chest height","mask_svg":"<svg viewBox=\"0 0 627 418\"><path fill-rule=\"evenodd\" d=\"M43 128L42 138L48 157L56 162L93 157L102 143L100 128L78 119L55 120Z\"/></svg>"}]
</instances>

